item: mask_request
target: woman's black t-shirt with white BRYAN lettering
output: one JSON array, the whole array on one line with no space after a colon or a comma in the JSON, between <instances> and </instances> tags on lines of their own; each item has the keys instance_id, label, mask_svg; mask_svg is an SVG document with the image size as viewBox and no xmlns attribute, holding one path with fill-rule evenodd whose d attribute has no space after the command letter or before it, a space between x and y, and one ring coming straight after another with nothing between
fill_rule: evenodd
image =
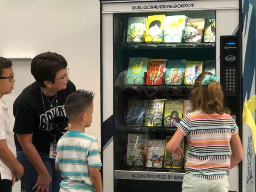
<instances>
[{"instance_id":1,"label":"woman's black t-shirt with white BRYAN lettering","mask_svg":"<svg viewBox=\"0 0 256 192\"><path fill-rule=\"evenodd\" d=\"M50 143L54 141L52 135L57 131L54 128L52 118L54 116L66 116L65 100L75 90L75 85L68 81L66 89L57 92L58 106L56 106L56 96L55 98L54 96L46 98L43 94L42 97L37 82L26 87L13 104L15 116L13 132L15 133L16 147L21 149L17 134L33 134L32 143L38 152L49 153ZM44 99L45 110L42 98ZM52 108L49 102L52 102Z\"/></svg>"}]
</instances>

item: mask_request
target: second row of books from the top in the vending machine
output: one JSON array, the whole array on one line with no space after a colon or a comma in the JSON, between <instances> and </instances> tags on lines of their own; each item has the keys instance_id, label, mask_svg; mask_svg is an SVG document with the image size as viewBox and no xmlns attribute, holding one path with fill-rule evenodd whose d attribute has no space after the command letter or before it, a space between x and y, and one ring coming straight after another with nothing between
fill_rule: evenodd
<instances>
[{"instance_id":1,"label":"second row of books from the top in the vending machine","mask_svg":"<svg viewBox=\"0 0 256 192\"><path fill-rule=\"evenodd\" d=\"M186 61L130 58L126 84L192 85L204 71L215 74L215 60Z\"/></svg>"}]
</instances>

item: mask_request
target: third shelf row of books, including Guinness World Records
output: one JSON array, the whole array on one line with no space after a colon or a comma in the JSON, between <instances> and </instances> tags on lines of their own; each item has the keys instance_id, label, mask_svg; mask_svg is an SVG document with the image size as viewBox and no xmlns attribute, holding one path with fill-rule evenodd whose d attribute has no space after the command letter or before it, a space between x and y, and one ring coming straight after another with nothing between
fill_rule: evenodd
<instances>
[{"instance_id":1,"label":"third shelf row of books, including Guinness World Records","mask_svg":"<svg viewBox=\"0 0 256 192\"><path fill-rule=\"evenodd\" d=\"M129 100L126 125L176 127L190 109L189 100Z\"/></svg>"}]
</instances>

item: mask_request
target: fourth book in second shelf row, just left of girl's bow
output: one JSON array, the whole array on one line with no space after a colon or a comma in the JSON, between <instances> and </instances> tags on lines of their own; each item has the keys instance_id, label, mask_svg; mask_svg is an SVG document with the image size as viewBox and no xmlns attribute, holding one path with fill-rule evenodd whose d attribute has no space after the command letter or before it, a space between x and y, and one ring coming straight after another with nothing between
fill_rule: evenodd
<instances>
[{"instance_id":1,"label":"fourth book in second shelf row, just left of girl's bow","mask_svg":"<svg viewBox=\"0 0 256 192\"><path fill-rule=\"evenodd\" d=\"M203 61L186 61L184 84L192 85L203 71Z\"/></svg>"}]
</instances>

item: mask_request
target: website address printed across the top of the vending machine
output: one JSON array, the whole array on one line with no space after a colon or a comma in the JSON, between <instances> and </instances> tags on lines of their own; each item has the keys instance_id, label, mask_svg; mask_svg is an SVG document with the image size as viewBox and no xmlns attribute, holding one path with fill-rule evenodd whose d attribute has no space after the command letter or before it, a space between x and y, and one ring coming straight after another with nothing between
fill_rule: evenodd
<instances>
[{"instance_id":1,"label":"website address printed across the top of the vending machine","mask_svg":"<svg viewBox=\"0 0 256 192\"><path fill-rule=\"evenodd\" d=\"M183 3L183 4L169 4L169 5L142 5L142 6L131 6L132 10L136 9L177 9L177 8L190 8L195 7L194 3Z\"/></svg>"}]
</instances>

